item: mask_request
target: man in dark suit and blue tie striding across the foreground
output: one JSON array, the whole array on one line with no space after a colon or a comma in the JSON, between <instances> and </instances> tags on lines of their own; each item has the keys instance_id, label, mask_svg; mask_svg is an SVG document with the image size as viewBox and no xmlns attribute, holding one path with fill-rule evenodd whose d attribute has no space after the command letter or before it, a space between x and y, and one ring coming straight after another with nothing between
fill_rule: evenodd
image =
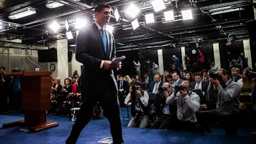
<instances>
[{"instance_id":1,"label":"man in dark suit and blue tie striding across the foreground","mask_svg":"<svg viewBox=\"0 0 256 144\"><path fill-rule=\"evenodd\" d=\"M99 101L109 120L113 144L124 143L118 102L118 88L113 69L121 68L116 58L115 39L104 25L109 22L111 7L99 4L95 8L95 23L79 31L76 39L76 60L83 63L81 74L81 108L66 143L76 143L80 132L92 119ZM102 32L102 30L103 32Z\"/></svg>"}]
</instances>

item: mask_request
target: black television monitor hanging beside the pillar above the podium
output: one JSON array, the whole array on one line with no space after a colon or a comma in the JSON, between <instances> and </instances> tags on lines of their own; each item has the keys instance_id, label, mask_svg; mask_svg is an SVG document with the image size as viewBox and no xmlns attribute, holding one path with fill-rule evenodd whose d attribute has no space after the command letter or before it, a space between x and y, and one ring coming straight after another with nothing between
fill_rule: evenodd
<instances>
[{"instance_id":1,"label":"black television monitor hanging beside the pillar above the podium","mask_svg":"<svg viewBox=\"0 0 256 144\"><path fill-rule=\"evenodd\" d=\"M57 49L55 49L55 48L38 50L37 54L38 54L38 62L39 63L58 61Z\"/></svg>"}]
</instances>

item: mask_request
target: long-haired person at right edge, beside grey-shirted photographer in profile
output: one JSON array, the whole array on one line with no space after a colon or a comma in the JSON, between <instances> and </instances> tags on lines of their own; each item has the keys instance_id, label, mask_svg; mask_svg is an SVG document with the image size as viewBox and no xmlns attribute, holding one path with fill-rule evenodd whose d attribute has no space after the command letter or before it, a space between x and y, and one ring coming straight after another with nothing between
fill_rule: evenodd
<instances>
[{"instance_id":1,"label":"long-haired person at right edge, beside grey-shirted photographer in profile","mask_svg":"<svg viewBox=\"0 0 256 144\"><path fill-rule=\"evenodd\" d=\"M237 84L241 86L241 95L239 97L239 110L240 110L240 120L242 124L248 124L250 122L250 113L252 112L252 101L250 95L252 95L252 90L254 86L253 77L248 76L247 73L252 71L252 68L247 67L243 70L243 77L237 81Z\"/></svg>"}]
</instances>

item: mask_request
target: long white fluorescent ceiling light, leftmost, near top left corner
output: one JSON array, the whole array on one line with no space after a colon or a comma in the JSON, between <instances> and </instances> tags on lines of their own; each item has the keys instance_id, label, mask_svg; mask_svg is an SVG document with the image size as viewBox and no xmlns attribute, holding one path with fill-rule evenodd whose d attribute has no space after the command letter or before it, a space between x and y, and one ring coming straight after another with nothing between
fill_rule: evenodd
<instances>
[{"instance_id":1,"label":"long white fluorescent ceiling light, leftmost, near top left corner","mask_svg":"<svg viewBox=\"0 0 256 144\"><path fill-rule=\"evenodd\" d=\"M20 19L22 17L27 17L28 15L33 15L35 13L36 13L35 8L25 8L25 9L10 13L8 18L9 19Z\"/></svg>"}]
</instances>

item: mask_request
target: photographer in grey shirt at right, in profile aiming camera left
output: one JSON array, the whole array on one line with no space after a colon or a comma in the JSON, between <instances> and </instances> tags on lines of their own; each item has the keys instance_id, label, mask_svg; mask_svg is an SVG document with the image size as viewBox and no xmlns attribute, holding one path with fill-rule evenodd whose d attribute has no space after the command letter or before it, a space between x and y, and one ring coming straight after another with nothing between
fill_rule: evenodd
<instances>
[{"instance_id":1,"label":"photographer in grey shirt at right, in profile aiming camera left","mask_svg":"<svg viewBox=\"0 0 256 144\"><path fill-rule=\"evenodd\" d=\"M207 92L211 93L211 86L216 86L218 91L216 112L220 123L225 129L226 135L236 135L240 87L229 78L228 71L222 68L218 70L217 74L210 74L210 80Z\"/></svg>"}]
</instances>

